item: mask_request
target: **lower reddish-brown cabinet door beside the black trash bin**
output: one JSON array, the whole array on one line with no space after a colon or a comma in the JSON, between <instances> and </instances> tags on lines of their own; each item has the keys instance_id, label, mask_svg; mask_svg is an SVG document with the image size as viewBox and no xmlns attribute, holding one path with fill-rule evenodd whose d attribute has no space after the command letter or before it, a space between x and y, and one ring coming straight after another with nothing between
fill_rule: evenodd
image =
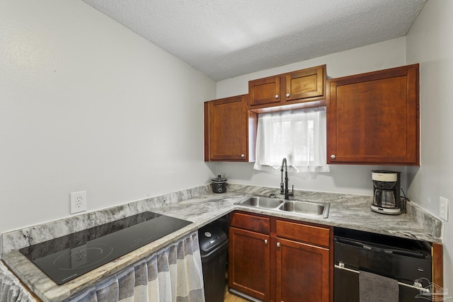
<instances>
[{"instance_id":1,"label":"lower reddish-brown cabinet door beside the black trash bin","mask_svg":"<svg viewBox=\"0 0 453 302\"><path fill-rule=\"evenodd\" d=\"M229 287L269 301L269 240L268 235L229 228Z\"/></svg>"}]
</instances>

